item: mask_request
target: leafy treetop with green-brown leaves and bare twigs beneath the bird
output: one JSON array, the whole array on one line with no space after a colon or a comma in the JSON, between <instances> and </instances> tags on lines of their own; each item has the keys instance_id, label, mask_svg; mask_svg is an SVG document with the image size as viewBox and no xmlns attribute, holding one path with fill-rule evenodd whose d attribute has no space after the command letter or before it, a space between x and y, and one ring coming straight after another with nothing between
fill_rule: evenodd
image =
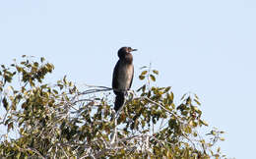
<instances>
[{"instance_id":1,"label":"leafy treetop with green-brown leaves and bare twigs beneath the bird","mask_svg":"<svg viewBox=\"0 0 256 159\"><path fill-rule=\"evenodd\" d=\"M224 157L215 146L224 132L198 132L208 127L198 96L174 104L170 86L152 86L159 72L151 67L142 68L145 84L129 92L118 115L109 87L81 88L66 77L45 83L54 66L44 58L1 68L1 158Z\"/></svg>"}]
</instances>

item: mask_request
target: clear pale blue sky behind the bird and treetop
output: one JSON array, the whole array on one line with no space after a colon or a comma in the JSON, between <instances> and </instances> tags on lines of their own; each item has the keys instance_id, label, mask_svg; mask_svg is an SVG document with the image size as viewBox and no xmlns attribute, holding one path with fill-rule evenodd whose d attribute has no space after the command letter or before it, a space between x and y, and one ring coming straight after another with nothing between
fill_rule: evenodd
<instances>
[{"instance_id":1,"label":"clear pale blue sky behind the bird and treetop","mask_svg":"<svg viewBox=\"0 0 256 159\"><path fill-rule=\"evenodd\" d=\"M157 85L201 99L228 157L255 156L256 1L0 0L0 64L45 57L54 82L111 86L117 50L132 46L135 78L152 63Z\"/></svg>"}]
</instances>

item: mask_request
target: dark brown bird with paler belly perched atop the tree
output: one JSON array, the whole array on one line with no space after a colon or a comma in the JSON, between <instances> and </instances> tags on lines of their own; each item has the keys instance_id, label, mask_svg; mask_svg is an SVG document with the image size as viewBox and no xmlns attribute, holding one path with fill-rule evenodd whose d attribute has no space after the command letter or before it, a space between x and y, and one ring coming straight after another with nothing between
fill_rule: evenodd
<instances>
[{"instance_id":1,"label":"dark brown bird with paler belly perched atop the tree","mask_svg":"<svg viewBox=\"0 0 256 159\"><path fill-rule=\"evenodd\" d=\"M124 97L127 90L131 88L133 81L133 56L131 47L122 47L118 50L119 60L114 67L112 88L116 95L114 102L114 110L117 112L124 104Z\"/></svg>"}]
</instances>

